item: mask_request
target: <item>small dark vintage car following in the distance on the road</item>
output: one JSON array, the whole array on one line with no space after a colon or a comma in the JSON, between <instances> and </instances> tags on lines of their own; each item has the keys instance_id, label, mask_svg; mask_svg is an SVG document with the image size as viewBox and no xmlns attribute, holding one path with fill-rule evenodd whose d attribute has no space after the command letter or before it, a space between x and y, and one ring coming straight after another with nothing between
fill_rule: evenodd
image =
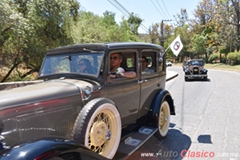
<instances>
[{"instance_id":1,"label":"small dark vintage car following in the distance on the road","mask_svg":"<svg viewBox=\"0 0 240 160\"><path fill-rule=\"evenodd\" d=\"M208 70L204 68L203 59L192 59L187 62L188 67L184 70L185 72L185 81L189 79L203 79L207 80Z\"/></svg>"}]
</instances>

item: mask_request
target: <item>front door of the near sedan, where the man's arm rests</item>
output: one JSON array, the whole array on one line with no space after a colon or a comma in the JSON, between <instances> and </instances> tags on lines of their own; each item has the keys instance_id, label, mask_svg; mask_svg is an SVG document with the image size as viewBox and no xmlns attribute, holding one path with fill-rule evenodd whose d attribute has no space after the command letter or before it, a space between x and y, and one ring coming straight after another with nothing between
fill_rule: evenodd
<instances>
[{"instance_id":1,"label":"front door of the near sedan, where the man's arm rests","mask_svg":"<svg viewBox=\"0 0 240 160\"><path fill-rule=\"evenodd\" d=\"M127 125L136 120L140 101L139 74L137 73L138 51L136 49L128 49L118 52L123 54L121 67L126 72L134 71L137 74L135 78L110 79L109 84L107 84L108 98L115 102L118 107L122 125Z\"/></svg>"}]
</instances>

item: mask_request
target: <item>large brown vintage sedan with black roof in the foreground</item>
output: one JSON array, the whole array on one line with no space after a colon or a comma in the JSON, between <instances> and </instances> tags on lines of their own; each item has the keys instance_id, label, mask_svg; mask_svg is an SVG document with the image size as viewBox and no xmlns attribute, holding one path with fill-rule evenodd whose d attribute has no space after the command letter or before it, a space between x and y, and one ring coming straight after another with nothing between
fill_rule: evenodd
<instances>
[{"instance_id":1,"label":"large brown vintage sedan with black roof in the foreground","mask_svg":"<svg viewBox=\"0 0 240 160\"><path fill-rule=\"evenodd\" d=\"M110 56L116 52L122 54L121 67L135 77L110 78ZM158 136L165 137L175 109L165 90L163 53L161 46L140 42L49 50L39 71L42 82L0 92L1 150L42 136L60 136L112 159L129 129L156 127ZM153 72L142 72L142 56ZM80 72L82 60L89 72ZM21 145L18 148L21 151ZM38 149L32 145L31 150Z\"/></svg>"}]
</instances>

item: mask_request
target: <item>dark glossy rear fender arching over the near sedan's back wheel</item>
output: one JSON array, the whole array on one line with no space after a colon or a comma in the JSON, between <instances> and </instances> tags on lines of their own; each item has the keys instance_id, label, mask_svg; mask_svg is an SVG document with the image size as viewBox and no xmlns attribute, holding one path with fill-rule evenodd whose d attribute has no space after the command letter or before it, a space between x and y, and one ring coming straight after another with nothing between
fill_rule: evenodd
<instances>
[{"instance_id":1,"label":"dark glossy rear fender arching over the near sedan's back wheel","mask_svg":"<svg viewBox=\"0 0 240 160\"><path fill-rule=\"evenodd\" d=\"M150 106L150 110L148 112L149 122L151 122L153 124L157 124L159 109L160 109L161 104L165 100L168 102L168 104L170 106L170 114L175 115L175 107L174 107L174 102L173 102L171 94L167 90L159 90L156 93L156 95L152 101L152 104Z\"/></svg>"}]
</instances>

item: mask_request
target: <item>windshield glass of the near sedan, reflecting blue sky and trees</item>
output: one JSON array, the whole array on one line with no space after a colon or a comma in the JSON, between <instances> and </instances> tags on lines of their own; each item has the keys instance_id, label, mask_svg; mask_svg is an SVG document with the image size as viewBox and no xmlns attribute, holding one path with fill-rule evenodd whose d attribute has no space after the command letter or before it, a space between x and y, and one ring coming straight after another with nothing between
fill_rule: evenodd
<instances>
[{"instance_id":1,"label":"windshield glass of the near sedan, reflecting blue sky and trees","mask_svg":"<svg viewBox=\"0 0 240 160\"><path fill-rule=\"evenodd\" d=\"M40 70L40 77L51 74L98 75L101 69L103 52L74 53L46 56Z\"/></svg>"}]
</instances>

